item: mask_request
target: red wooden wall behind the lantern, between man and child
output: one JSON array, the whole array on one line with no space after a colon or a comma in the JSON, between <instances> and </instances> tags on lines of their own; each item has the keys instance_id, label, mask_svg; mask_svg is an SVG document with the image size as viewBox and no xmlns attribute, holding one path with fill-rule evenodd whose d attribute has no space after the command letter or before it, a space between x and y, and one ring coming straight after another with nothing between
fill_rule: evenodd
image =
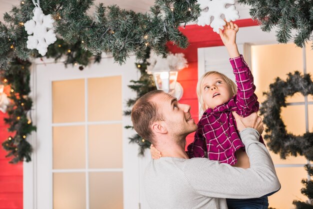
<instances>
[{"instance_id":1,"label":"red wooden wall behind the lantern, between man and child","mask_svg":"<svg viewBox=\"0 0 313 209\"><path fill-rule=\"evenodd\" d=\"M254 26L257 22L252 19L241 19L235 21L239 27ZM183 87L183 96L179 100L180 103L187 103L191 105L191 116L198 122L198 101L196 97L196 83L198 80L198 66L197 66L197 48L219 46L223 45L220 40L219 34L213 32L210 26L198 26L198 25L186 25L185 28L179 29L189 40L189 46L186 49L181 49L168 43L167 46L172 53L184 53L185 58L188 61L188 67L178 72L177 81ZM242 53L242 51L241 51ZM227 59L228 57L225 57ZM193 141L194 133L190 133L186 140L188 145Z\"/></svg>"}]
</instances>

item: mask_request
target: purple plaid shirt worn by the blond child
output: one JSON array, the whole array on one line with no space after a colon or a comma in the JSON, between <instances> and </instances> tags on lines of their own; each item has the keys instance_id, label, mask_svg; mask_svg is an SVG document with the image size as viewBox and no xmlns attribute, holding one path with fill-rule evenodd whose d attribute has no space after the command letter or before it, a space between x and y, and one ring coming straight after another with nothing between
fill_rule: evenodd
<instances>
[{"instance_id":1,"label":"purple plaid shirt worn by the blond child","mask_svg":"<svg viewBox=\"0 0 313 209\"><path fill-rule=\"evenodd\" d=\"M236 128L231 111L245 117L258 110L257 96L254 94L252 73L242 55L229 59L237 84L237 93L229 101L208 108L198 122L194 141L187 147L192 157L207 157L233 165L237 162L235 151L244 147ZM263 143L262 137L260 141Z\"/></svg>"}]
</instances>

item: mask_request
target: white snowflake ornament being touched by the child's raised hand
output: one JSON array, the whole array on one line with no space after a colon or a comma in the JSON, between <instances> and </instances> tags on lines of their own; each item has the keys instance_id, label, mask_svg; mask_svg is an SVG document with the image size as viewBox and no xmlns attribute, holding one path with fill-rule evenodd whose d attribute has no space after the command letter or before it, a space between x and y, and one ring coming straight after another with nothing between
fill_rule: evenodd
<instances>
[{"instance_id":1,"label":"white snowflake ornament being touched by the child's raised hand","mask_svg":"<svg viewBox=\"0 0 313 209\"><path fill-rule=\"evenodd\" d=\"M226 24L221 18L222 14L224 14L227 22L239 18L238 11L234 5L226 8L226 4L234 4L235 0L197 0L197 2L200 4L200 9L202 9L198 17L198 25L210 25L214 32L219 33L218 28L223 29L223 26ZM212 16L214 19L211 22Z\"/></svg>"}]
</instances>

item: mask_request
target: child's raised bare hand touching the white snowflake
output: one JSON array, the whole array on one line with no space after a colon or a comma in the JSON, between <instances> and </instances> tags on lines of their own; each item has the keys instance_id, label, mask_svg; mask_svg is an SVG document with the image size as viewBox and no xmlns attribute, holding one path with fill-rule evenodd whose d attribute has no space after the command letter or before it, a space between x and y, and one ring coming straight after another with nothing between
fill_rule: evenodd
<instances>
[{"instance_id":1,"label":"child's raised bare hand touching the white snowflake","mask_svg":"<svg viewBox=\"0 0 313 209\"><path fill-rule=\"evenodd\" d=\"M226 22L224 30L219 28L219 36L226 47L236 44L236 33L238 30L238 26L232 21Z\"/></svg>"}]
</instances>

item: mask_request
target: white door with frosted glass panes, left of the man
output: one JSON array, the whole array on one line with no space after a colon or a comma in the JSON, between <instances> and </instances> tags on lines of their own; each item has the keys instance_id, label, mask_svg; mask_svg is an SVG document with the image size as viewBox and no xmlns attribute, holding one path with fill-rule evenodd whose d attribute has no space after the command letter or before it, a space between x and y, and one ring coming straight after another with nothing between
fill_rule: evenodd
<instances>
[{"instance_id":1,"label":"white door with frosted glass panes, left of the man","mask_svg":"<svg viewBox=\"0 0 313 209\"><path fill-rule=\"evenodd\" d=\"M45 62L45 63L43 63ZM135 93L134 57L82 71L36 60L32 69L33 154L24 163L24 208L138 208L137 145L123 116Z\"/></svg>"}]
</instances>

